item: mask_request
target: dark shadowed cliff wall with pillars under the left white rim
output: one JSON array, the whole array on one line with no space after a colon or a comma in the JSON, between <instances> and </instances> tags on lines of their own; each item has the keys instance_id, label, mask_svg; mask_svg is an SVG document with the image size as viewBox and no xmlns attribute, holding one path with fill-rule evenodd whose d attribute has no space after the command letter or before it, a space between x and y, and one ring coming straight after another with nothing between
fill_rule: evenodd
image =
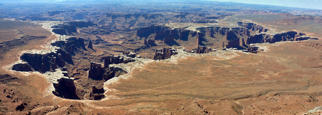
<instances>
[{"instance_id":1,"label":"dark shadowed cliff wall with pillars under the left white rim","mask_svg":"<svg viewBox=\"0 0 322 115\"><path fill-rule=\"evenodd\" d=\"M52 72L58 67L64 67L65 62L72 63L71 54L84 50L85 44L83 38L71 37L65 41L56 41L51 43L55 49L53 51L28 51L20 58L23 62L27 62L34 71L45 73ZM14 65L13 70L30 70L22 69L22 65Z\"/></svg>"}]
</instances>

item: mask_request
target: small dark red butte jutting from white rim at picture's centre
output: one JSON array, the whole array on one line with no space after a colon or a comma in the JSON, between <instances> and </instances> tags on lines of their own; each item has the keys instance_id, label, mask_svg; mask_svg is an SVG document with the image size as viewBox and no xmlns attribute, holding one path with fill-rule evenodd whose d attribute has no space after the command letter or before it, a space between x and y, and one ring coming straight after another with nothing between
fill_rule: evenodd
<instances>
[{"instance_id":1,"label":"small dark red butte jutting from white rim at picture's centre","mask_svg":"<svg viewBox=\"0 0 322 115\"><path fill-rule=\"evenodd\" d=\"M172 55L178 54L175 49L170 48L161 48L156 49L156 53L154 55L154 60L161 60L170 58Z\"/></svg>"}]
</instances>

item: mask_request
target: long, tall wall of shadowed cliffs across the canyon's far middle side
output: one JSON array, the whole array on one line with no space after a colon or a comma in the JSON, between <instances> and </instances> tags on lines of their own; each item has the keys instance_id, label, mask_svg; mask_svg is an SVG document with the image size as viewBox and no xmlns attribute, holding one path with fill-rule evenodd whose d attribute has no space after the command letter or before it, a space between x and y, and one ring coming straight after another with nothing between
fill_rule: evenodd
<instances>
[{"instance_id":1,"label":"long, tall wall of shadowed cliffs across the canyon's far middle side","mask_svg":"<svg viewBox=\"0 0 322 115\"><path fill-rule=\"evenodd\" d=\"M231 41L227 44L228 47L236 47L238 44L237 38L240 38L239 40L245 40L249 37L256 38L256 40L249 39L249 42L239 41L242 42L242 46L245 46L247 43L257 42L257 39L259 39L257 37L260 37L259 35L251 36L251 33L262 33L268 31L268 29L263 26L254 23L238 22L238 24L242 27L201 27L196 28L196 31L187 30L186 28L172 28L166 25L153 25L138 29L137 36L141 38L151 38L154 36L155 40L163 40L164 43L174 40L183 40L180 42L186 42L191 45L216 44L217 46L215 47L218 47L219 45L218 43L214 43L216 41L220 40L225 43ZM259 39L260 42L262 38L263 36ZM147 41L144 43L147 44Z\"/></svg>"}]
</instances>

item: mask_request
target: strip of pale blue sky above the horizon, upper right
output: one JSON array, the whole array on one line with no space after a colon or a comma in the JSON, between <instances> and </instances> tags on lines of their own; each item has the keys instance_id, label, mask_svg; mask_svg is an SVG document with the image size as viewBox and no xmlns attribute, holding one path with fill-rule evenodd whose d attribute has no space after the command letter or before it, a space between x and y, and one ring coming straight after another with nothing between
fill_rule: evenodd
<instances>
[{"instance_id":1,"label":"strip of pale blue sky above the horizon, upper right","mask_svg":"<svg viewBox=\"0 0 322 115\"><path fill-rule=\"evenodd\" d=\"M209 1L237 2L237 3L248 3L248 4L266 4L266 5L322 9L322 0L209 0Z\"/></svg>"}]
</instances>

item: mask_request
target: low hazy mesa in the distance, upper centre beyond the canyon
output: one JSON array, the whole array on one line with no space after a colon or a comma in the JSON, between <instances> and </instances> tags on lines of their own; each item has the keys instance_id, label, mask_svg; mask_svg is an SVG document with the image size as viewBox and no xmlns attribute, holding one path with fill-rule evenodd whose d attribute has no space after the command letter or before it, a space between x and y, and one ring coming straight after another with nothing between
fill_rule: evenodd
<instances>
[{"instance_id":1,"label":"low hazy mesa in the distance, upper centre beyond the canyon","mask_svg":"<svg viewBox=\"0 0 322 115\"><path fill-rule=\"evenodd\" d=\"M127 19L145 19L145 20L150 20L150 19L156 19L159 17L163 17L162 14L128 14L128 13L107 13L106 17L110 17L111 19L116 19L116 18L123 18L125 20Z\"/></svg>"}]
</instances>

